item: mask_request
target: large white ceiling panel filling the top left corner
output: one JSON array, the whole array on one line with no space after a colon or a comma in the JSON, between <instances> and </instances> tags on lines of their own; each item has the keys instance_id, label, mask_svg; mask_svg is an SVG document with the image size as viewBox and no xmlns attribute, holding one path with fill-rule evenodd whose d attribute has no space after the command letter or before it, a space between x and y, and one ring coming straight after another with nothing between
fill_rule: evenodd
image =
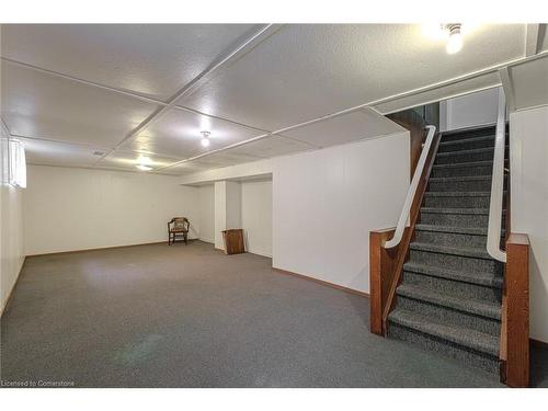
<instances>
[{"instance_id":1,"label":"large white ceiling panel filling the top left corner","mask_svg":"<svg viewBox=\"0 0 548 411\"><path fill-rule=\"evenodd\" d=\"M258 26L13 24L1 30L2 57L165 100Z\"/></svg>"}]
</instances>

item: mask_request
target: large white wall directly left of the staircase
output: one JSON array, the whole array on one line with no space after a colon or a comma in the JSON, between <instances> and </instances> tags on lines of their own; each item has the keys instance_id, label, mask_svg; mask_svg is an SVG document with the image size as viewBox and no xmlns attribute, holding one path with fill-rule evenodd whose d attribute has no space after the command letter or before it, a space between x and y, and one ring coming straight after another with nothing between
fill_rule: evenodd
<instances>
[{"instance_id":1,"label":"large white wall directly left of the staircase","mask_svg":"<svg viewBox=\"0 0 548 411\"><path fill-rule=\"evenodd\" d=\"M393 227L409 132L273 159L273 266L369 292L369 231Z\"/></svg>"}]
</instances>

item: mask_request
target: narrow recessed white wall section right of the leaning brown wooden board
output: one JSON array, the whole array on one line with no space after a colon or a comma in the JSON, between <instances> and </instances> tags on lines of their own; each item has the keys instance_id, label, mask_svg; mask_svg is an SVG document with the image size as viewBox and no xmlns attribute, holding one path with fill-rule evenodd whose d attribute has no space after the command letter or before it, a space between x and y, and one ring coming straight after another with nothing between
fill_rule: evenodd
<instances>
[{"instance_id":1,"label":"narrow recessed white wall section right of the leaning brown wooden board","mask_svg":"<svg viewBox=\"0 0 548 411\"><path fill-rule=\"evenodd\" d=\"M272 256L272 180L241 182L241 222L248 252Z\"/></svg>"}]
</instances>

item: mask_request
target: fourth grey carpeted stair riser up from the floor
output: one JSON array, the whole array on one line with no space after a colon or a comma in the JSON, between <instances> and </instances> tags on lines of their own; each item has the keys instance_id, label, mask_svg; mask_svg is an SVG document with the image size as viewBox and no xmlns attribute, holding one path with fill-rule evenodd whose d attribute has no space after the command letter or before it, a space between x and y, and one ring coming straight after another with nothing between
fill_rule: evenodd
<instances>
[{"instance_id":1,"label":"fourth grey carpeted stair riser up from the floor","mask_svg":"<svg viewBox=\"0 0 548 411\"><path fill-rule=\"evenodd\" d=\"M502 264L494 260L411 250L409 261L418 264L443 266L448 270L502 275Z\"/></svg>"}]
</instances>

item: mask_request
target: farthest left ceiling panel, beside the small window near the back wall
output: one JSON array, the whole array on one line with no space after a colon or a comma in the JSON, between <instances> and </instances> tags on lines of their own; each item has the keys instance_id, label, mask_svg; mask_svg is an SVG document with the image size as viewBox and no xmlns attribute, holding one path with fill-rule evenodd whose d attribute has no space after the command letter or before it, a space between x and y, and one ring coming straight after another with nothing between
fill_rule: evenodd
<instances>
[{"instance_id":1,"label":"farthest left ceiling panel, beside the small window near the back wall","mask_svg":"<svg viewBox=\"0 0 548 411\"><path fill-rule=\"evenodd\" d=\"M35 164L92 167L99 159L100 148L66 142L18 138L25 147L26 161Z\"/></svg>"}]
</instances>

